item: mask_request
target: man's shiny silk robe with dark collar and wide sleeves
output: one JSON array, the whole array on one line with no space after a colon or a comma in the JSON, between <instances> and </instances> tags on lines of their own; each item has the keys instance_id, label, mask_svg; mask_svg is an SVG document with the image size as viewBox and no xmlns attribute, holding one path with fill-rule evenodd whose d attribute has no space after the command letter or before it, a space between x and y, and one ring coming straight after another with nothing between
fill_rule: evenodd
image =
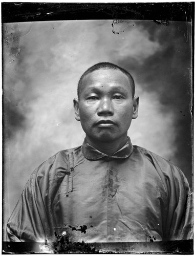
<instances>
[{"instance_id":1,"label":"man's shiny silk robe with dark collar and wide sleeves","mask_svg":"<svg viewBox=\"0 0 195 256\"><path fill-rule=\"evenodd\" d=\"M32 173L8 221L10 241L192 239L192 193L181 170L139 146L107 156L84 140Z\"/></svg>"}]
</instances>

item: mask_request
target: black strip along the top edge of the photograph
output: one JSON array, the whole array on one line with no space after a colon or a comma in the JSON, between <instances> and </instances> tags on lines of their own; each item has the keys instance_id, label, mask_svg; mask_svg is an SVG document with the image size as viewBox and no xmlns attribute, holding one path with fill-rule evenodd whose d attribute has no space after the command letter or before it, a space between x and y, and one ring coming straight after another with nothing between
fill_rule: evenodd
<instances>
[{"instance_id":1,"label":"black strip along the top edge of the photograph","mask_svg":"<svg viewBox=\"0 0 195 256\"><path fill-rule=\"evenodd\" d=\"M188 3L2 3L2 23L75 19L148 19L190 22Z\"/></svg>"}]
</instances>

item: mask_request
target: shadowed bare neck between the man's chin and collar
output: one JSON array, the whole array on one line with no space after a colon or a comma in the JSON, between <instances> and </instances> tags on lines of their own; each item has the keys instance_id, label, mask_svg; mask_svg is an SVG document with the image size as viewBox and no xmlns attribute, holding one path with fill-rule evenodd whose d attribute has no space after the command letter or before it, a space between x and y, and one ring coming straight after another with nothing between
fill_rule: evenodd
<instances>
[{"instance_id":1,"label":"shadowed bare neck between the man's chin and collar","mask_svg":"<svg viewBox=\"0 0 195 256\"><path fill-rule=\"evenodd\" d=\"M102 141L94 141L86 135L86 141L96 150L106 154L106 155L113 155L115 152L120 150L121 147L124 146L126 143L127 136L124 138L118 139L117 141L109 141L109 142L102 142Z\"/></svg>"}]
</instances>

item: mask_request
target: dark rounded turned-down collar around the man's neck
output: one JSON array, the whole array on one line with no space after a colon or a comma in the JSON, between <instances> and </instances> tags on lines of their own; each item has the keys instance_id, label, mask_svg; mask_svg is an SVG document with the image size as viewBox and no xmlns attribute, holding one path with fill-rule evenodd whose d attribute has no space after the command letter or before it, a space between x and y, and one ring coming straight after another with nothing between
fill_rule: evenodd
<instances>
[{"instance_id":1,"label":"dark rounded turned-down collar around the man's neck","mask_svg":"<svg viewBox=\"0 0 195 256\"><path fill-rule=\"evenodd\" d=\"M82 143L82 154L86 159L89 160L98 160L101 158L118 158L123 159L129 157L133 152L133 145L131 142L131 139L127 136L127 141L123 147L120 148L117 152L115 152L113 155L106 155L99 150L96 150L95 147L91 146L86 139L84 139Z\"/></svg>"}]
</instances>

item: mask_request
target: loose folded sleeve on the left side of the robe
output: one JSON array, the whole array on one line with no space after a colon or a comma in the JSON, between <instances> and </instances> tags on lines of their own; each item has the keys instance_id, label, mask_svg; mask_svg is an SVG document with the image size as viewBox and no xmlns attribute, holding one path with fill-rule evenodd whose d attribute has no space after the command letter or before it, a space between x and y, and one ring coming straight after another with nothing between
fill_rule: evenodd
<instances>
[{"instance_id":1,"label":"loose folded sleeve on the left side of the robe","mask_svg":"<svg viewBox=\"0 0 195 256\"><path fill-rule=\"evenodd\" d=\"M45 164L39 166L27 182L7 223L11 242L45 242L50 225L46 200L49 175ZM45 173L45 174L44 174Z\"/></svg>"}]
</instances>

